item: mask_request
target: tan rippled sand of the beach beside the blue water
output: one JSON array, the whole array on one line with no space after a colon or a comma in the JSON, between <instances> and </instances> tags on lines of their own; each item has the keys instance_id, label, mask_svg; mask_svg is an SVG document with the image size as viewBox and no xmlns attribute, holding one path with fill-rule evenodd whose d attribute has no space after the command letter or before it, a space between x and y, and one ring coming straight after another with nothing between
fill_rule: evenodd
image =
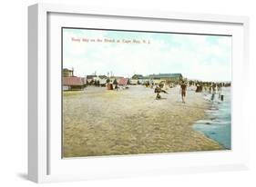
<instances>
[{"instance_id":1,"label":"tan rippled sand of the beach beside the blue water","mask_svg":"<svg viewBox=\"0 0 256 187\"><path fill-rule=\"evenodd\" d=\"M118 92L94 86L65 92L63 156L222 150L192 127L210 103L194 91L187 92L187 103L181 103L179 88L167 92L161 100L142 85Z\"/></svg>"}]
</instances>

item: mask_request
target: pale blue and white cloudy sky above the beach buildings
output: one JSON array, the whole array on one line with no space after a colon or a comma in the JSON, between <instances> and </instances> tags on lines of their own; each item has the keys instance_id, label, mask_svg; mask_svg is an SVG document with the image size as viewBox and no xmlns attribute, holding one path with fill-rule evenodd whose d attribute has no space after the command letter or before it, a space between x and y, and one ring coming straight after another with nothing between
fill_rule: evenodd
<instances>
[{"instance_id":1,"label":"pale blue and white cloudy sky above the beach buildings","mask_svg":"<svg viewBox=\"0 0 256 187\"><path fill-rule=\"evenodd\" d=\"M123 43L134 39L146 44ZM230 81L231 36L63 29L63 66L73 67L77 76L180 73L189 79Z\"/></svg>"}]
</instances>

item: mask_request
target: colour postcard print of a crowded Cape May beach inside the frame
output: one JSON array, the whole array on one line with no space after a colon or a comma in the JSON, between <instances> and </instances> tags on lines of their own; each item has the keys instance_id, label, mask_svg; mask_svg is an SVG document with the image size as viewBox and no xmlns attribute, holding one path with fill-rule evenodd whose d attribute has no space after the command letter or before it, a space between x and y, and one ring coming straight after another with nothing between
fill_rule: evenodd
<instances>
[{"instance_id":1,"label":"colour postcard print of a crowded Cape May beach inside the frame","mask_svg":"<svg viewBox=\"0 0 256 187\"><path fill-rule=\"evenodd\" d=\"M63 158L231 149L231 35L61 37Z\"/></svg>"}]
</instances>

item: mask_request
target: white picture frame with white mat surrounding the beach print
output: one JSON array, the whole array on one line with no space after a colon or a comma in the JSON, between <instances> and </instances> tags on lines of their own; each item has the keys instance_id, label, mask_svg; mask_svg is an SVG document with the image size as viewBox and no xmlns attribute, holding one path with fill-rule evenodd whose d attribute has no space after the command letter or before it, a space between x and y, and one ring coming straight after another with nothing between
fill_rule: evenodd
<instances>
[{"instance_id":1,"label":"white picture frame with white mat surrounding the beach print","mask_svg":"<svg viewBox=\"0 0 256 187\"><path fill-rule=\"evenodd\" d=\"M53 18L50 16L68 16ZM70 16L69 16L70 15ZM100 158L67 159L61 158L57 128L53 113L60 105L53 97L57 93L54 86L61 85L57 68L50 64L53 55L50 48L60 46L55 41L52 30L58 26L81 25L78 17L97 16L98 23L112 28L122 19L136 22L137 19L163 22L186 23L178 28L186 32L189 24L195 24L192 32L234 34L233 45L233 88L232 93L232 143L230 152L210 153L164 153L128 156L103 156ZM102 20L111 18L112 25ZM102 19L102 20L101 20ZM101 21L100 21L101 20ZM66 25L62 25L63 23ZM70 26L69 25L69 26ZM83 24L87 25L87 24ZM209 25L205 28L202 25ZM221 27L223 25L223 28ZM225 25L228 25L226 28ZM128 25L129 26L129 25ZM230 27L229 27L230 26ZM112 177L159 175L191 172L218 172L244 170L249 167L249 122L246 119L246 97L240 84L248 86L249 69L249 18L235 15L200 15L169 12L140 12L92 8L76 5L36 4L28 7L28 178L33 182L62 182ZM200 31L200 28L202 29ZM203 30L205 29L205 30ZM213 29L213 30L212 30ZM54 31L53 31L54 32ZM188 33L191 31L187 31ZM51 35L51 37L50 37ZM53 44L53 45L51 45ZM237 53L236 53L237 52ZM246 88L244 88L246 89ZM243 89L243 90L244 90ZM240 99L238 99L240 98ZM56 102L56 103L55 103ZM54 104L53 104L54 103ZM53 121L52 121L53 120ZM56 120L56 121L54 121ZM58 119L59 120L59 119ZM242 124L242 125L241 125ZM57 125L56 125L57 126ZM65 172L63 172L65 171Z\"/></svg>"}]
</instances>

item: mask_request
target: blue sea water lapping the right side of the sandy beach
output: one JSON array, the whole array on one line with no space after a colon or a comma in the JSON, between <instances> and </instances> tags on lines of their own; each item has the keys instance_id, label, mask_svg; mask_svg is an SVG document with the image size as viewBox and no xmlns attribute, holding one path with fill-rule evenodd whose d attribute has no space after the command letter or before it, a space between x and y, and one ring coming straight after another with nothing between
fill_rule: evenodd
<instances>
[{"instance_id":1,"label":"blue sea water lapping the right side of the sandy beach","mask_svg":"<svg viewBox=\"0 0 256 187\"><path fill-rule=\"evenodd\" d=\"M213 100L211 100L211 94L204 94L204 99L210 101L211 107L205 111L207 118L194 123L193 128L220 143L226 149L231 149L230 87L224 87L222 92L223 101L219 100L219 94L215 94Z\"/></svg>"}]
</instances>

